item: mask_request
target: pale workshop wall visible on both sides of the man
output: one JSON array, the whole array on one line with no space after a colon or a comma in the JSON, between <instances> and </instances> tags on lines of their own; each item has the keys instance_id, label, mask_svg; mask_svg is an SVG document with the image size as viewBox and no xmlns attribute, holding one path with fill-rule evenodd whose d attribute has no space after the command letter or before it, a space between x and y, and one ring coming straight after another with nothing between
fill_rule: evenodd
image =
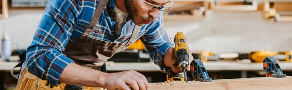
<instances>
[{"instance_id":1,"label":"pale workshop wall visible on both sides of the man","mask_svg":"<svg viewBox=\"0 0 292 90\"><path fill-rule=\"evenodd\" d=\"M0 37L7 32L13 45L24 49L31 44L43 10L14 10L0 20ZM209 12L206 18L165 20L170 38L183 31L190 50L212 52L291 50L292 23L264 21L261 12ZM15 46L14 46L15 47Z\"/></svg>"}]
</instances>

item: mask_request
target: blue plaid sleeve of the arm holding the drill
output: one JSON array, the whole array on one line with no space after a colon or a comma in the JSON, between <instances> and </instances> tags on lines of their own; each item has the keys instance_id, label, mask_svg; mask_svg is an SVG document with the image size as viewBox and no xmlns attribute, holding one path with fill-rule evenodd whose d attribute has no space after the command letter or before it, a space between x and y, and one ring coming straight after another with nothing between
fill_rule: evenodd
<instances>
[{"instance_id":1,"label":"blue plaid sleeve of the arm holding the drill","mask_svg":"<svg viewBox=\"0 0 292 90\"><path fill-rule=\"evenodd\" d=\"M163 22L163 12L160 12L157 20L152 22L152 27L140 38L145 45L146 52L150 56L150 59L153 60L161 70L166 68L163 61L165 52L168 48L174 47L173 42L164 29Z\"/></svg>"}]
</instances>

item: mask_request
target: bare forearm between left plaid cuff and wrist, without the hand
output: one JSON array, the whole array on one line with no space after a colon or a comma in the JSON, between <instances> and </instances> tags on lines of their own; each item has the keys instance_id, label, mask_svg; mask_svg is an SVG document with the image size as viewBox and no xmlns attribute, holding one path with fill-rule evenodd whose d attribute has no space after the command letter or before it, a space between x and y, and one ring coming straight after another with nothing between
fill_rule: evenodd
<instances>
[{"instance_id":1,"label":"bare forearm between left plaid cuff and wrist, without the hand","mask_svg":"<svg viewBox=\"0 0 292 90\"><path fill-rule=\"evenodd\" d=\"M105 75L106 73L71 63L64 69L59 82L88 87L102 87L105 85Z\"/></svg>"}]
</instances>

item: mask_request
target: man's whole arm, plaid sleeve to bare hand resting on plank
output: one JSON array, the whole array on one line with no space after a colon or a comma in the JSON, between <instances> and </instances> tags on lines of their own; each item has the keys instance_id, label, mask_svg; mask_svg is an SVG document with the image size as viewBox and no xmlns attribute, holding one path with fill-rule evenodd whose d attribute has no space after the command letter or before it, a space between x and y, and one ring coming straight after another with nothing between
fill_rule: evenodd
<instances>
[{"instance_id":1,"label":"man's whole arm, plaid sleeve to bare hand resting on plank","mask_svg":"<svg viewBox=\"0 0 292 90\"><path fill-rule=\"evenodd\" d=\"M62 54L76 27L79 10L78 0L49 0L33 42L27 48L28 72L52 86L66 83L130 90L129 85L135 90L146 90L149 87L146 77L138 72L103 73L79 66Z\"/></svg>"}]
</instances>

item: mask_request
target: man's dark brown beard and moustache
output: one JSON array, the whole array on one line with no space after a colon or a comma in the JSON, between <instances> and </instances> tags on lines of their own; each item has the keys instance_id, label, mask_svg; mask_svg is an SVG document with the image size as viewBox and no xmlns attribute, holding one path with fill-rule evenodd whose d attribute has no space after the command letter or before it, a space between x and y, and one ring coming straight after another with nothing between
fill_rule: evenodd
<instances>
[{"instance_id":1,"label":"man's dark brown beard and moustache","mask_svg":"<svg viewBox=\"0 0 292 90\"><path fill-rule=\"evenodd\" d=\"M134 0L125 0L126 9L129 15L129 18L135 22L135 18L142 18L143 20L153 21L153 17L149 15L149 17L141 16L138 14L138 10L135 7ZM142 26L143 23L137 22L136 25Z\"/></svg>"}]
</instances>

